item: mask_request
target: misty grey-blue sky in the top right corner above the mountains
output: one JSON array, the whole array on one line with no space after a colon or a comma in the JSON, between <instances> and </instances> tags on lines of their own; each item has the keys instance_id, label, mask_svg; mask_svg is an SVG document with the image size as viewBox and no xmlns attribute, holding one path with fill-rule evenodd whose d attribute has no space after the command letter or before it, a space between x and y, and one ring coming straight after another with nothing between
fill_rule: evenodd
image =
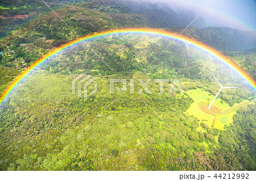
<instances>
[{"instance_id":1,"label":"misty grey-blue sky in the top right corner above the mountains","mask_svg":"<svg viewBox=\"0 0 256 181\"><path fill-rule=\"evenodd\" d=\"M196 15L213 0L143 0L147 2L164 2L171 9L192 10ZM256 31L256 0L216 0L200 17L207 26L238 28L244 31Z\"/></svg>"}]
</instances>

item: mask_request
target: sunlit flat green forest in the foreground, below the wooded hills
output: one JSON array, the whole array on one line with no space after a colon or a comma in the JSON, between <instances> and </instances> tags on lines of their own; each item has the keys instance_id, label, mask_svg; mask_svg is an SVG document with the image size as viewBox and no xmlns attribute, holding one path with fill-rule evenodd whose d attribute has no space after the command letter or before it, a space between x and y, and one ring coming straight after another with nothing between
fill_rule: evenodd
<instances>
[{"instance_id":1,"label":"sunlit flat green forest in the foreground, below the wooded hills","mask_svg":"<svg viewBox=\"0 0 256 181\"><path fill-rule=\"evenodd\" d=\"M1 170L209 170L205 162L214 170L254 169L255 104L241 108L234 123L219 131L199 125L196 117L185 113L193 102L187 94L139 95L137 82L133 95L110 95L109 77L97 75L98 92L85 100L71 94L74 77L38 71L17 88L7 100L9 104L3 104ZM146 78L139 72L128 77ZM153 83L148 87L158 89ZM201 132L197 130L200 126Z\"/></svg>"}]
</instances>

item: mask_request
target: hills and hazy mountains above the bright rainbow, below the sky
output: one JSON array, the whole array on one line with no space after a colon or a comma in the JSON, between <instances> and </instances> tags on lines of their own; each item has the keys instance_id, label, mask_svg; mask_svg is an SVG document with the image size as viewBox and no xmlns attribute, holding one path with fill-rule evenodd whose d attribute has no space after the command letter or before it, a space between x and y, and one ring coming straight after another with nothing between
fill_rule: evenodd
<instances>
[{"instance_id":1,"label":"hills and hazy mountains above the bright rainbow, below the sky","mask_svg":"<svg viewBox=\"0 0 256 181\"><path fill-rule=\"evenodd\" d=\"M163 3L116 0L86 2L56 0L47 3L80 36L129 27L164 28L180 33L196 17L192 11L175 12ZM12 45L14 51L19 44L33 44L34 47L37 41L42 41L41 39L51 40L49 41L51 43L47 41L46 46L46 49L50 50L77 38L41 1L27 0L20 5L15 4L14 1L1 1L0 6L3 7L0 9L1 17L27 15L24 19L0 18L2 36L0 50L10 49L8 44ZM198 18L183 32L183 35L202 41L222 52L255 52L256 48L256 38L249 32L228 27L205 27L202 18ZM18 57L20 56L23 54Z\"/></svg>"}]
</instances>

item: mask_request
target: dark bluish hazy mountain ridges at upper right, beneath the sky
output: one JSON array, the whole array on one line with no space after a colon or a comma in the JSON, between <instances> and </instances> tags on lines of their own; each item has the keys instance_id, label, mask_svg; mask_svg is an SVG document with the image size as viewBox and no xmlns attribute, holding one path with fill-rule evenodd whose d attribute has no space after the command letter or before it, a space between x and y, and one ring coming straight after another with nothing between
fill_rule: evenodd
<instances>
[{"instance_id":1,"label":"dark bluish hazy mountain ridges at upper right, beneath the sky","mask_svg":"<svg viewBox=\"0 0 256 181\"><path fill-rule=\"evenodd\" d=\"M183 27L182 31L196 18L192 11L175 12L163 3L119 2L110 5L115 5L125 12L142 15L152 28L171 28L175 32L177 29L174 27ZM197 18L190 27L192 28L185 31L184 35L222 51L245 51L256 48L256 37L249 32L229 27L206 27L203 18Z\"/></svg>"}]
</instances>

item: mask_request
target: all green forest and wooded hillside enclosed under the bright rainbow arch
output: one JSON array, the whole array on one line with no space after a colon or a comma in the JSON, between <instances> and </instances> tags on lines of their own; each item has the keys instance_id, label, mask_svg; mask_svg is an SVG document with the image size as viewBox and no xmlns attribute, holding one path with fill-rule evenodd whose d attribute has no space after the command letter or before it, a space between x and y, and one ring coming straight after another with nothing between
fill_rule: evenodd
<instances>
[{"instance_id":1,"label":"all green forest and wooded hillside enclosed under the bright rainbow arch","mask_svg":"<svg viewBox=\"0 0 256 181\"><path fill-rule=\"evenodd\" d=\"M252 170L254 146L247 144L254 139L250 124L243 128L246 132L237 127L237 122L220 132L186 113L193 102L188 94L177 96L179 90L167 94L174 78L180 79L185 91L200 87L209 94L218 91L213 73L223 83L242 86L242 82L237 82L237 75L224 65L216 64L213 57L179 43L142 73L147 60L156 56L150 52L158 52L168 41L148 35L115 35L90 41L90 47L104 57L113 72L82 43L49 58L1 107L1 153L5 153L1 154L1 169L209 170L207 163L216 170ZM98 78L98 91L88 100L71 94L71 81L81 73ZM129 86L127 92L109 94L110 78L145 81L148 77L170 79L165 93L160 94L159 85L151 81L148 88L152 94L138 94L141 85L135 81L135 94L129 93ZM232 103L253 98L254 94L245 89L242 94L223 91L221 96ZM237 113L237 120L243 120L242 127L253 123L254 105L245 108L247 112ZM95 123L49 165L99 114ZM230 134L237 135L235 141L228 141ZM241 140L243 144L237 145ZM237 150L230 149L230 144ZM239 151L241 156L234 158Z\"/></svg>"}]
</instances>

